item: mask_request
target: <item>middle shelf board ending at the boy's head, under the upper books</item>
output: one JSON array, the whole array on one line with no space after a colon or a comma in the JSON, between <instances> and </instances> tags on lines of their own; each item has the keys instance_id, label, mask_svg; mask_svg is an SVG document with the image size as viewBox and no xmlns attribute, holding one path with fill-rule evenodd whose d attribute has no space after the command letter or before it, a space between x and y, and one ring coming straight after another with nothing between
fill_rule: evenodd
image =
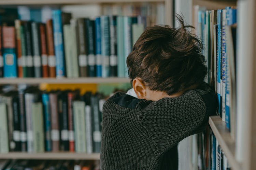
<instances>
[{"instance_id":1,"label":"middle shelf board ending at the boy's head, under the upper books","mask_svg":"<svg viewBox=\"0 0 256 170\"><path fill-rule=\"evenodd\" d=\"M89 83L129 83L129 78L0 78L0 84L89 84Z\"/></svg>"}]
</instances>

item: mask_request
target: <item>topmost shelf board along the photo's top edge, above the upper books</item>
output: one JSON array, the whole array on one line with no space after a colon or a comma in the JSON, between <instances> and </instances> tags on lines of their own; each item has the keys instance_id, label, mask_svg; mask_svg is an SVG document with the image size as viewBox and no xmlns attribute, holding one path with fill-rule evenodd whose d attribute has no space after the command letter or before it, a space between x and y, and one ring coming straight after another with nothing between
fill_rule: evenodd
<instances>
[{"instance_id":1,"label":"topmost shelf board along the photo's top edge, above the upper books","mask_svg":"<svg viewBox=\"0 0 256 170\"><path fill-rule=\"evenodd\" d=\"M38 5L38 4L86 4L86 3L129 3L165 2L165 0L0 0L1 5Z\"/></svg>"}]
</instances>

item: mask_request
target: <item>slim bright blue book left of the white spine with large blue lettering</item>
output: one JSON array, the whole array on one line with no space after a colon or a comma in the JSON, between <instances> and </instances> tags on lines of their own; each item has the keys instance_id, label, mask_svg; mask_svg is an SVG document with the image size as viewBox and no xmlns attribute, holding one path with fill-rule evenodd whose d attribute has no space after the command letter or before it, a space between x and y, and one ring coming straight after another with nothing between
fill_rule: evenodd
<instances>
[{"instance_id":1,"label":"slim bright blue book left of the white spine with large blue lettering","mask_svg":"<svg viewBox=\"0 0 256 170\"><path fill-rule=\"evenodd\" d=\"M217 99L218 99L218 114L221 114L221 106L222 106L222 62L221 62L221 56L222 56L222 23L221 23L221 17L222 17L222 10L217 10Z\"/></svg>"}]
</instances>

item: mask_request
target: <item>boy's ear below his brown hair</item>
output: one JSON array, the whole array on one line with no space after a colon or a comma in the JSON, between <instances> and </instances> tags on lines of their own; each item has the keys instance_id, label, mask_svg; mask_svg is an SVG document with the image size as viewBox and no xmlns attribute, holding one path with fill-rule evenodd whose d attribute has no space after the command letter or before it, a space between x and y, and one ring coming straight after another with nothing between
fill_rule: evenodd
<instances>
[{"instance_id":1,"label":"boy's ear below his brown hair","mask_svg":"<svg viewBox=\"0 0 256 170\"><path fill-rule=\"evenodd\" d=\"M146 88L141 78L133 79L132 87L139 99L146 99Z\"/></svg>"}]
</instances>

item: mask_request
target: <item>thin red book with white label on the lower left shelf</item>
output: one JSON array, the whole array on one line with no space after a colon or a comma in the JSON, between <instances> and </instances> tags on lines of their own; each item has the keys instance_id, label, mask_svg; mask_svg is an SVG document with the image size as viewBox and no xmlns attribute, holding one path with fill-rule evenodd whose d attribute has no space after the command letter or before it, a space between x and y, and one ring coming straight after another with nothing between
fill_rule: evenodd
<instances>
[{"instance_id":1,"label":"thin red book with white label on the lower left shelf","mask_svg":"<svg viewBox=\"0 0 256 170\"><path fill-rule=\"evenodd\" d=\"M69 131L69 151L75 151L75 137L74 137L74 122L73 122L73 109L72 109L72 92L68 93L68 131Z\"/></svg>"}]
</instances>

